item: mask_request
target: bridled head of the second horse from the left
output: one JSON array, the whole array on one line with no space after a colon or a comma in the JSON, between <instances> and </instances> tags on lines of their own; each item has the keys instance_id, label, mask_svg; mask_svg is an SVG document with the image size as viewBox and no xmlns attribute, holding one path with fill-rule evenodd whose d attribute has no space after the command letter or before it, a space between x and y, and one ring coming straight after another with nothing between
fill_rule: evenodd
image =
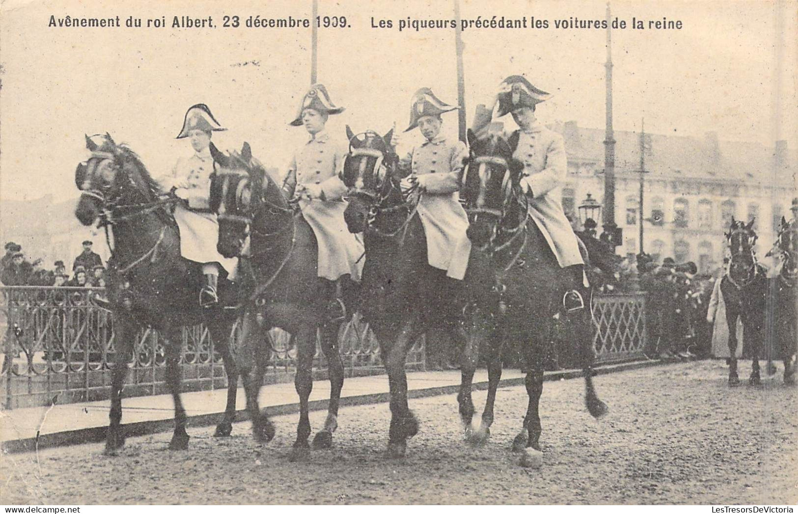
<instances>
[{"instance_id":1,"label":"bridled head of the second horse from the left","mask_svg":"<svg viewBox=\"0 0 798 514\"><path fill-rule=\"evenodd\" d=\"M240 152L224 154L210 145L214 172L211 174L209 206L219 222L216 250L224 257L239 257L253 227L271 223L264 219L268 208L281 214L290 212L280 188L268 175L263 164L252 156L248 143Z\"/></svg>"}]
</instances>

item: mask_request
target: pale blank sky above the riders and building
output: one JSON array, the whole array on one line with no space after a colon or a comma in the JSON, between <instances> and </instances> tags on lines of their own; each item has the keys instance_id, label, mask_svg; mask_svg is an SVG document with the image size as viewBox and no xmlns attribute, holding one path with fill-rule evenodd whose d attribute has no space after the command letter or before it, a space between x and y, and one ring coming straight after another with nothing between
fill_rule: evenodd
<instances>
[{"instance_id":1,"label":"pale blank sky above the riders and building","mask_svg":"<svg viewBox=\"0 0 798 514\"><path fill-rule=\"evenodd\" d=\"M453 30L397 30L400 19L452 18L452 2L319 0L320 14L350 28L320 29L318 80L336 105L328 128L404 130L424 86L456 103ZM306 140L288 126L310 85L310 29L223 28L223 16L310 17L310 0L275 2L47 2L0 4L0 200L77 196L73 173L84 134L128 143L154 176L192 150L176 140L190 105L205 103L228 128L219 148L248 141L267 166L284 169ZM781 28L776 29L780 5ZM552 93L544 123L604 126L606 31L555 29L555 19L604 19L605 2L461 0L463 18L547 19L548 29L463 32L468 122L500 81L523 74ZM681 30L614 30L614 127L722 140L798 144L795 116L798 2L612 2L613 17L681 20ZM53 28L49 17L212 16L213 29ZM392 29L372 29L371 18ZM144 21L146 23L146 21ZM780 38L777 37L780 35ZM780 45L780 65L776 63ZM780 87L776 87L776 84ZM780 105L777 109L776 105ZM508 124L512 121L508 120ZM456 115L444 115L456 135ZM405 134L407 148L421 136ZM401 150L402 148L400 148ZM2 220L0 220L2 223Z\"/></svg>"}]
</instances>

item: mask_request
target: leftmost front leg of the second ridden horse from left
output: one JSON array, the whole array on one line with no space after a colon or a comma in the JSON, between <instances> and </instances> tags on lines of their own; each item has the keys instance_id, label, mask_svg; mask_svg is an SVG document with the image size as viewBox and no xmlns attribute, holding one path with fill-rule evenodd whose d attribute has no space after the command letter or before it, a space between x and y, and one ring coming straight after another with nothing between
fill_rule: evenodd
<instances>
[{"instance_id":1,"label":"leftmost front leg of the second ridden horse from left","mask_svg":"<svg viewBox=\"0 0 798 514\"><path fill-rule=\"evenodd\" d=\"M252 420L252 436L255 441L267 443L275 437L275 425L260 412L258 395L263 385L263 372L266 369L267 350L261 344L265 337L263 327L257 321L257 314L247 311L241 321L241 342L235 353L235 369L241 376L244 393L247 396L247 412Z\"/></svg>"}]
</instances>

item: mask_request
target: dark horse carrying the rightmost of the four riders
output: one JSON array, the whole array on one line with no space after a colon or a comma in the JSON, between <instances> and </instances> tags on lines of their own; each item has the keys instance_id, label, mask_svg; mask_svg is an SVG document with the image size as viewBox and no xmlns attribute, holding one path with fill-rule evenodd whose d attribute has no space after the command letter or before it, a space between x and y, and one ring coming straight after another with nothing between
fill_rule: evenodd
<instances>
[{"instance_id":1,"label":"dark horse carrying the rightmost of the four riders","mask_svg":"<svg viewBox=\"0 0 798 514\"><path fill-rule=\"evenodd\" d=\"M473 308L490 312L501 341L521 342L529 403L513 449L540 450L538 409L543 393L543 355L554 316L563 318L568 338L578 342L588 411L594 417L607 412L592 382L595 352L591 291L583 283L580 268L559 267L542 232L527 215L527 196L520 186L523 164L512 157L518 144L517 133L509 141L496 135L476 140L469 131L468 143L470 153L460 189L470 223L468 237L479 255L488 259L496 291L491 302L474 302ZM582 250L587 257L583 247ZM567 295L577 295L582 302L577 300L573 306L577 298L566 302ZM571 304L568 310L564 308L566 303ZM492 409L492 402L489 407Z\"/></svg>"}]
</instances>

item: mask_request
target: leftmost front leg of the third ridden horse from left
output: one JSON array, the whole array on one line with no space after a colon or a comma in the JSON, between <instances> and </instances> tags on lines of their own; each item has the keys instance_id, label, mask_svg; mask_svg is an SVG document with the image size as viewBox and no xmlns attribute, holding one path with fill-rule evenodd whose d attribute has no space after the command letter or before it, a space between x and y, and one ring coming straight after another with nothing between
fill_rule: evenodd
<instances>
[{"instance_id":1,"label":"leftmost front leg of the third ridden horse from left","mask_svg":"<svg viewBox=\"0 0 798 514\"><path fill-rule=\"evenodd\" d=\"M385 369L388 371L390 389L391 424L388 431L388 452L390 458L405 457L407 439L418 433L418 421L410 411L407 402L407 374L405 360L413 346L413 327L415 320L403 323L398 337L385 354Z\"/></svg>"}]
</instances>

